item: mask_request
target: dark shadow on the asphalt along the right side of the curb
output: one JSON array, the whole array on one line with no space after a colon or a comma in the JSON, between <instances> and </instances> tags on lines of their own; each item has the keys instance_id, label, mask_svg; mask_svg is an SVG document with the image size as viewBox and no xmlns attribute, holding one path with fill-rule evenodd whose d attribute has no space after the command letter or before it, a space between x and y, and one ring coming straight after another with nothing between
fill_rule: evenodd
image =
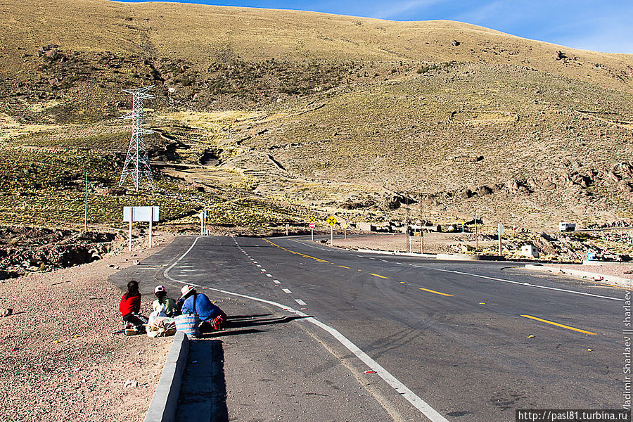
<instances>
[{"instance_id":1,"label":"dark shadow on the asphalt along the right side of the curb","mask_svg":"<svg viewBox=\"0 0 633 422\"><path fill-rule=\"evenodd\" d=\"M222 340L191 340L175 421L229 421Z\"/></svg>"}]
</instances>

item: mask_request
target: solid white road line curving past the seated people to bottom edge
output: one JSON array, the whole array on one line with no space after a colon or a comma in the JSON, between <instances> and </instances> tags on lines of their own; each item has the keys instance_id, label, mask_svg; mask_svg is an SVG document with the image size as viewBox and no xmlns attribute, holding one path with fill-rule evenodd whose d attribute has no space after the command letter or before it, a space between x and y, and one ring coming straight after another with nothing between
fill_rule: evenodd
<instances>
[{"instance_id":1,"label":"solid white road line curving past the seated people to bottom edge","mask_svg":"<svg viewBox=\"0 0 633 422\"><path fill-rule=\"evenodd\" d=\"M169 273L170 269L172 269L176 264L178 264L178 262L181 259L183 259L193 249L193 246L195 246L196 242L198 242L198 238L199 238L199 236L196 237L196 240L193 241L193 243L191 244L191 247L188 248L188 250L186 252L184 252L184 254L176 260L176 262L174 262L170 267L165 269L165 271L162 274L165 276L166 279L169 279L169 280L174 281L176 283L187 284L184 281L173 279L168 273ZM196 284L192 284L191 286L202 287L202 286L198 286ZM407 399L407 402L413 404L413 406L416 409L418 409L419 411L421 411L422 414L424 416L426 416L429 421L431 421L431 422L449 422L449 420L447 418L442 416L437 410L433 409L433 407L430 407L430 405L427 402L425 402L423 399L418 397L418 395L416 395L416 393L414 393L413 391L409 390L407 385L404 385L397 378L395 378L395 376L392 376L392 374L389 371L387 371L386 369L384 369L383 366L381 366L381 364L378 364L378 362L376 362L375 360L371 359L371 357L369 357L368 354L363 352L357 345L352 343L347 337L345 337L345 335L341 334L336 328L333 328L331 326L328 326L328 325L322 323L318 319L314 318L314 316L309 316L308 314L304 314L303 312L297 311L297 310L295 310L295 309L293 309L293 308L291 308L289 306L281 305L281 303L273 302L272 300L255 298L254 296L248 296L248 295L241 295L240 293L229 292L227 290L221 290L219 288L207 287L207 289L208 290L215 290L215 291L217 291L219 293L224 293L226 295L237 296L238 298L245 298L245 299L255 300L257 302L267 303L268 305L273 305L274 307L279 307L280 309L288 309L288 312L292 312L293 314L296 314L298 316L303 316L305 321L308 321L308 322L314 324L315 326L317 326L319 328L322 328L324 331L327 331L328 333L330 333L333 338L338 340L338 343L340 343L343 346L345 346L345 348L347 348L347 350L350 350L350 352L352 352L358 359L360 359L364 364L369 366L369 369L371 369L372 371L376 372L376 375L378 375L381 378L383 378L383 380L386 383L388 383L391 386L391 388L396 390L399 393L399 395L401 395L402 397Z\"/></svg>"}]
</instances>

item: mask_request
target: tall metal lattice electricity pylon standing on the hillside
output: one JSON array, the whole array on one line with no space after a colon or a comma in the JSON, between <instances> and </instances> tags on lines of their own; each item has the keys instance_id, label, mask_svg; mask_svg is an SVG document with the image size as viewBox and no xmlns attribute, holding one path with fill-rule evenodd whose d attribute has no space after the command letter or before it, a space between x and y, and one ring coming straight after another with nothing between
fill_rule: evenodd
<instances>
[{"instance_id":1,"label":"tall metal lattice electricity pylon standing on the hillside","mask_svg":"<svg viewBox=\"0 0 633 422\"><path fill-rule=\"evenodd\" d=\"M136 191L139 191L143 177L147 178L149 186L154 189L152 169L149 165L147 148L143 141L143 134L152 133L151 130L143 129L143 100L145 98L154 98L153 95L147 94L147 91L153 87L154 86L151 85L151 87L123 90L123 92L132 94L132 111L119 118L132 119L132 138L129 140L127 157L125 158L125 164L121 172L119 186L123 185L123 182L127 179L127 175L129 174L132 176L132 183L134 183L134 189Z\"/></svg>"}]
</instances>

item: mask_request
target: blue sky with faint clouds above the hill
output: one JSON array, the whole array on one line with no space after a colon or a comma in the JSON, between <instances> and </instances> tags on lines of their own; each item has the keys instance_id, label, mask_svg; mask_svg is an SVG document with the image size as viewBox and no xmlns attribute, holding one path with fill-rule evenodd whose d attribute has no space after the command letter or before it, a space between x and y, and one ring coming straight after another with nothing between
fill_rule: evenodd
<instances>
[{"instance_id":1,"label":"blue sky with faint clouds above the hill","mask_svg":"<svg viewBox=\"0 0 633 422\"><path fill-rule=\"evenodd\" d=\"M136 0L122 0L136 1ZM186 0L389 20L448 19L577 49L633 53L633 0Z\"/></svg>"}]
</instances>

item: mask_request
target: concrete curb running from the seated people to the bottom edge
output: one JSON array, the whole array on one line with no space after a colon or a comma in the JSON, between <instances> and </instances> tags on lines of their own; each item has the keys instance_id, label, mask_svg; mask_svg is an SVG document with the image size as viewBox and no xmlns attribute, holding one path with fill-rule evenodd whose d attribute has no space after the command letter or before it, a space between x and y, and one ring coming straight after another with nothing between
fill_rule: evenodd
<instances>
[{"instance_id":1,"label":"concrete curb running from the seated people to the bottom edge","mask_svg":"<svg viewBox=\"0 0 633 422\"><path fill-rule=\"evenodd\" d=\"M182 373L187 364L188 354L189 340L185 333L177 331L170 353L167 354L165 367L162 369L162 375L160 376L160 381L158 381L154 397L145 414L145 422L174 421L180 395Z\"/></svg>"}]
</instances>

